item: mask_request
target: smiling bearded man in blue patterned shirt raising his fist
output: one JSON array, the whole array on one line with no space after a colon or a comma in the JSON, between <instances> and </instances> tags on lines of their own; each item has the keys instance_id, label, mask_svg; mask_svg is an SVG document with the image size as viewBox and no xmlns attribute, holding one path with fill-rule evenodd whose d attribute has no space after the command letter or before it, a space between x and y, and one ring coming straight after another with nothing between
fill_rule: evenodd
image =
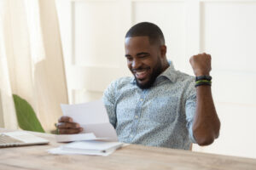
<instances>
[{"instance_id":1,"label":"smiling bearded man in blue patterned shirt raising his fist","mask_svg":"<svg viewBox=\"0 0 256 170\"><path fill-rule=\"evenodd\" d=\"M119 141L189 150L191 142L207 145L218 138L209 54L190 58L195 82L168 63L160 28L143 22L126 33L125 58L134 77L112 82L103 95ZM58 128L60 133L82 131L67 116Z\"/></svg>"}]
</instances>

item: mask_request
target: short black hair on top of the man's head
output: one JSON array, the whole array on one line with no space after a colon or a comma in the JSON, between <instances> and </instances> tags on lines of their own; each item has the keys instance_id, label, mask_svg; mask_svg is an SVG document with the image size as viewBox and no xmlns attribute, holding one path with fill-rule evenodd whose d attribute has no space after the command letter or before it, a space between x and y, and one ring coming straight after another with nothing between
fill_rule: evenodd
<instances>
[{"instance_id":1,"label":"short black hair on top of the man's head","mask_svg":"<svg viewBox=\"0 0 256 170\"><path fill-rule=\"evenodd\" d=\"M150 22L141 22L135 26L132 26L129 31L127 31L126 37L143 37L146 36L151 44L156 42L160 45L165 45L165 37L160 27L156 26Z\"/></svg>"}]
</instances>

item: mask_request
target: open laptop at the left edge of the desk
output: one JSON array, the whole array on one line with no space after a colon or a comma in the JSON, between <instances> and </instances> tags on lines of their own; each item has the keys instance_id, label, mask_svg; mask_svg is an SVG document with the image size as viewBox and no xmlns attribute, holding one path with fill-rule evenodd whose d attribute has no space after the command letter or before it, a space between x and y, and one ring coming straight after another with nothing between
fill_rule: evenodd
<instances>
[{"instance_id":1,"label":"open laptop at the left edge of the desk","mask_svg":"<svg viewBox=\"0 0 256 170\"><path fill-rule=\"evenodd\" d=\"M0 133L0 148L35 144L49 144L49 141L23 131Z\"/></svg>"}]
</instances>

